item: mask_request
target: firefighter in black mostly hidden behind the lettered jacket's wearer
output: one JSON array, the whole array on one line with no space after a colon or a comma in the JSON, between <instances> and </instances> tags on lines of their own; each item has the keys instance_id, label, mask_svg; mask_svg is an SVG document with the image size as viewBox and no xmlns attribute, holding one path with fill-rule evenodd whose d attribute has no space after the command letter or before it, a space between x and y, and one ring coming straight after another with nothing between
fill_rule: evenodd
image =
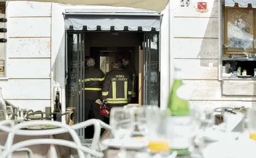
<instances>
[{"instance_id":1,"label":"firefighter in black mostly hidden behind the lettered jacket's wearer","mask_svg":"<svg viewBox=\"0 0 256 158\"><path fill-rule=\"evenodd\" d=\"M130 59L123 58L122 59L123 67L125 71L129 74L132 84L132 95L131 95L131 103L135 103L135 97L136 97L136 70L134 68L134 65L131 63Z\"/></svg>"}]
</instances>

